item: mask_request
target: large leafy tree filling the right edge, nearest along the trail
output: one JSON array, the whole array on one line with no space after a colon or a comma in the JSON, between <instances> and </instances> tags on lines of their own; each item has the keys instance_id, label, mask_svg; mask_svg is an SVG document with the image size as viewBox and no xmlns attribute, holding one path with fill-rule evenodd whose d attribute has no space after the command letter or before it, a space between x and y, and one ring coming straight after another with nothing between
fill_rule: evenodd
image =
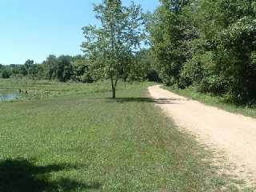
<instances>
[{"instance_id":1,"label":"large leafy tree filling the right edge, nearest along the trail","mask_svg":"<svg viewBox=\"0 0 256 192\"><path fill-rule=\"evenodd\" d=\"M255 98L255 5L252 0L200 1L194 20L202 43L194 58L205 60L202 90L223 94L231 102Z\"/></svg>"}]
</instances>

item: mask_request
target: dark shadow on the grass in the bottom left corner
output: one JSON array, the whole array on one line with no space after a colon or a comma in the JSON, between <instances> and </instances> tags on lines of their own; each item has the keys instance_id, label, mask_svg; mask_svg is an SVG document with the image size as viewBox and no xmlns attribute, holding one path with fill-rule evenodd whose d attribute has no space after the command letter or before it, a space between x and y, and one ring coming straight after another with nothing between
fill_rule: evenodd
<instances>
[{"instance_id":1,"label":"dark shadow on the grass in the bottom left corner","mask_svg":"<svg viewBox=\"0 0 256 192\"><path fill-rule=\"evenodd\" d=\"M101 185L97 182L90 185L70 178L50 179L50 173L77 169L69 164L53 164L36 166L34 162L18 158L0 162L0 191L1 192L54 192L74 190L98 190Z\"/></svg>"}]
</instances>

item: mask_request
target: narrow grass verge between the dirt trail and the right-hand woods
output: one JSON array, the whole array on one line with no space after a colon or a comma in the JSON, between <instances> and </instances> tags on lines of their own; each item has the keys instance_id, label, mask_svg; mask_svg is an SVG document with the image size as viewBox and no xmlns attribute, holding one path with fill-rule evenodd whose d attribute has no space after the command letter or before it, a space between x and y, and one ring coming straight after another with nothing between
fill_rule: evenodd
<instances>
[{"instance_id":1,"label":"narrow grass verge between the dirt trail and the right-hand woods","mask_svg":"<svg viewBox=\"0 0 256 192\"><path fill-rule=\"evenodd\" d=\"M211 94L199 93L195 87L190 87L185 90L178 89L174 86L162 86L166 90L170 90L176 94L185 96L186 98L192 98L199 102L203 102L206 105L217 106L223 110L230 111L231 113L243 114L256 118L256 106L241 106L234 103L226 102L224 98L214 96Z\"/></svg>"}]
</instances>

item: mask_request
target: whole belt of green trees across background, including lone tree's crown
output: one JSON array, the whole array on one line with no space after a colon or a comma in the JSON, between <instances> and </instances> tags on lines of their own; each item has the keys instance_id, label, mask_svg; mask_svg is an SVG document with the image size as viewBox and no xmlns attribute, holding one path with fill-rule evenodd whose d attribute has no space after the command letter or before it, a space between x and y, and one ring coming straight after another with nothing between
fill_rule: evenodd
<instances>
[{"instance_id":1,"label":"whole belt of green trees across background, including lone tree's crown","mask_svg":"<svg viewBox=\"0 0 256 192\"><path fill-rule=\"evenodd\" d=\"M154 13L142 13L134 3L105 0L94 11L102 26L83 28L84 55L0 65L1 77L161 81L230 102L256 102L255 1L160 0Z\"/></svg>"}]
</instances>

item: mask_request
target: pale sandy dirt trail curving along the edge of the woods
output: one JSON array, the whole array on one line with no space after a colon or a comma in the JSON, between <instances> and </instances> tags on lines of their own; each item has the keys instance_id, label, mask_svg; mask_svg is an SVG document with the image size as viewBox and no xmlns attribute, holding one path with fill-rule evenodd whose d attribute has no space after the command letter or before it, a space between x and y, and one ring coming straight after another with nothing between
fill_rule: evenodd
<instances>
[{"instance_id":1,"label":"pale sandy dirt trail curving along the edge of the woods","mask_svg":"<svg viewBox=\"0 0 256 192\"><path fill-rule=\"evenodd\" d=\"M238 173L234 174L244 174L250 182L256 181L256 119L206 106L160 86L150 86L148 90L178 126L207 146L224 152L226 160L238 166L233 170Z\"/></svg>"}]
</instances>

